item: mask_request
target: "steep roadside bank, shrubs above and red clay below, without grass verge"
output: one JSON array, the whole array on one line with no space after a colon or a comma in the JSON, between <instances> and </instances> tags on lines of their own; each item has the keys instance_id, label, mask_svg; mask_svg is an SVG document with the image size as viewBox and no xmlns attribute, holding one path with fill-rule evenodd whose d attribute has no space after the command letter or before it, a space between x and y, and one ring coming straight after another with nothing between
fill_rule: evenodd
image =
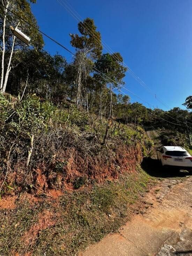
<instances>
[{"instance_id":1,"label":"steep roadside bank, shrubs above and red clay below, without grass verge","mask_svg":"<svg viewBox=\"0 0 192 256\"><path fill-rule=\"evenodd\" d=\"M22 101L1 95L0 107L1 196L9 187L32 192L118 178L153 144L140 126L101 123L73 105L57 107L35 95Z\"/></svg>"}]
</instances>

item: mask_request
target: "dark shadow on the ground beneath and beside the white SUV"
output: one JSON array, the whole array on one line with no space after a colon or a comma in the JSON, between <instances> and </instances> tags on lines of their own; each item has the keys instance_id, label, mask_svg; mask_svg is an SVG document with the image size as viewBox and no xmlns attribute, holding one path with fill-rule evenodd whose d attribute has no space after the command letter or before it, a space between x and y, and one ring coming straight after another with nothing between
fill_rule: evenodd
<instances>
[{"instance_id":1,"label":"dark shadow on the ground beneath and beside the white SUV","mask_svg":"<svg viewBox=\"0 0 192 256\"><path fill-rule=\"evenodd\" d=\"M157 159L144 158L141 167L150 176L157 178L171 178L171 177L186 177L189 175L188 171L179 170L178 168L162 167Z\"/></svg>"}]
</instances>

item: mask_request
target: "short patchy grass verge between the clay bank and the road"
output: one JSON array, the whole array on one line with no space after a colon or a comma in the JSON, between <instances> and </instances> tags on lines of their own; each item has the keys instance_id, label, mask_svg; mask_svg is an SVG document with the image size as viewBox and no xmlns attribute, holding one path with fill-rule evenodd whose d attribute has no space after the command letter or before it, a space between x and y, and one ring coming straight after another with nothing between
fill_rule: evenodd
<instances>
[{"instance_id":1,"label":"short patchy grass verge between the clay bank and the road","mask_svg":"<svg viewBox=\"0 0 192 256\"><path fill-rule=\"evenodd\" d=\"M122 175L119 180L66 192L51 203L44 200L30 205L18 201L16 209L0 212L0 255L24 255L25 251L33 256L77 255L125 223L131 204L149 181L154 179L138 167L137 172ZM31 242L24 243L23 235L39 222L38 216L45 210L52 213L55 224L39 230Z\"/></svg>"}]
</instances>

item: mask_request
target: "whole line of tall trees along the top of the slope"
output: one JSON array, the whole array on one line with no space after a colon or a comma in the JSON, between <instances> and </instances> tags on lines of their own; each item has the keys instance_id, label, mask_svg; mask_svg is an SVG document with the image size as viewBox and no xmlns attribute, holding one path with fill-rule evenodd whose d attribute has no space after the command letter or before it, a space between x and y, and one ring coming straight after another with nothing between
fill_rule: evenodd
<instances>
[{"instance_id":1,"label":"whole line of tall trees along the top of the slope","mask_svg":"<svg viewBox=\"0 0 192 256\"><path fill-rule=\"evenodd\" d=\"M153 125L178 131L187 139L192 133L192 96L186 98L186 110L178 107L163 111L151 109L139 102L130 102L130 95L123 93L127 71L119 52L103 53L101 33L89 17L77 24L78 34L69 35L74 56L67 62L59 53L51 55L43 49L42 35L29 23L37 26L31 12L35 0L3 0L0 5L0 51L2 94L18 96L36 94L55 105L70 102L85 113L95 113L97 120L116 120L124 124ZM7 7L8 9L6 9ZM19 19L19 16L25 21ZM10 23L19 24L30 38L30 46L13 36ZM124 90L125 92L126 90ZM189 139L188 144L189 144Z\"/></svg>"}]
</instances>

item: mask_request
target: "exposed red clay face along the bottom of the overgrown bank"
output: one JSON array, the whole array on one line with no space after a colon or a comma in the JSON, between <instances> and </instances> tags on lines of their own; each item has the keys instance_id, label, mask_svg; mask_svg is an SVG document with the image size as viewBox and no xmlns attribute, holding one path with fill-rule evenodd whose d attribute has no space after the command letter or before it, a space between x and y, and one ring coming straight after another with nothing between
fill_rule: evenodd
<instances>
[{"instance_id":1,"label":"exposed red clay face along the bottom of the overgrown bank","mask_svg":"<svg viewBox=\"0 0 192 256\"><path fill-rule=\"evenodd\" d=\"M48 193L48 196L57 198L60 196L58 190L73 190L74 181L79 177L89 180L103 182L105 179L117 179L122 173L132 173L136 165L142 160L141 145L126 146L116 145L116 149L100 153L96 156L85 156L75 148L61 151L51 166L39 166L37 169L26 173L22 166L16 167L12 173L12 181L17 185L17 191L32 184L35 189L29 188L33 194ZM63 167L57 169L57 163ZM67 164L66 164L67 163ZM15 179L14 177L15 176ZM8 181L8 184L12 182ZM26 184L27 183L27 184ZM13 199L12 199L13 202Z\"/></svg>"}]
</instances>

